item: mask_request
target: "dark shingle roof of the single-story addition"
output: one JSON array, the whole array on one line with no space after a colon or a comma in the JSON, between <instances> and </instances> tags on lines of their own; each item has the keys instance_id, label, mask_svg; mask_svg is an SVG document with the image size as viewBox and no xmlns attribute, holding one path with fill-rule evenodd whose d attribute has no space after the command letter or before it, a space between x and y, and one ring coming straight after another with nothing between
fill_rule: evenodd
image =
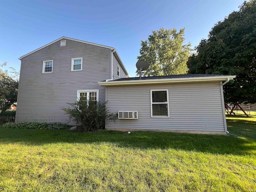
<instances>
[{"instance_id":1,"label":"dark shingle roof of the single-story addition","mask_svg":"<svg viewBox=\"0 0 256 192\"><path fill-rule=\"evenodd\" d=\"M219 77L219 76L227 76L227 75L185 74L185 75L165 75L165 76L141 77L141 79L148 80L148 79L173 79L173 78ZM129 80L140 80L140 77L120 78L120 79L116 79L113 81L129 81Z\"/></svg>"}]
</instances>

